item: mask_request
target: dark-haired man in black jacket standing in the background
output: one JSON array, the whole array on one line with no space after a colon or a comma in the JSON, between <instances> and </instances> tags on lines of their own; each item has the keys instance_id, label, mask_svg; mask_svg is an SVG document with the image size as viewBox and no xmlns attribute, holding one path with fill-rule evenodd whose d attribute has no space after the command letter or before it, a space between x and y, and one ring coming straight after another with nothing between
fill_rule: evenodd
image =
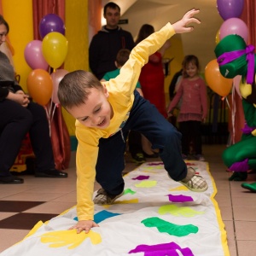
<instances>
[{"instance_id":1,"label":"dark-haired man in black jacket standing in the background","mask_svg":"<svg viewBox=\"0 0 256 256\"><path fill-rule=\"evenodd\" d=\"M106 26L92 38L89 48L90 70L97 79L116 69L114 61L119 49L132 49L134 41L130 32L118 26L120 8L116 3L109 2L104 6Z\"/></svg>"}]
</instances>

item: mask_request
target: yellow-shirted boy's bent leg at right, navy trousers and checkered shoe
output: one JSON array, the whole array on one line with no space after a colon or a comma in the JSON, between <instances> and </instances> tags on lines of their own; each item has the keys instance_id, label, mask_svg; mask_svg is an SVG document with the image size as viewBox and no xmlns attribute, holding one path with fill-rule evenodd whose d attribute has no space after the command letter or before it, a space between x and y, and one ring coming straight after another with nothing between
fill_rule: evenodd
<instances>
[{"instance_id":1,"label":"yellow-shirted boy's bent leg at right, navy trousers and checkered shoe","mask_svg":"<svg viewBox=\"0 0 256 256\"><path fill-rule=\"evenodd\" d=\"M150 102L137 96L125 128L140 131L152 143L152 148L160 149L160 158L169 176L183 182L189 189L205 191L206 181L187 169L181 152L181 133L171 125ZM197 184L195 184L197 183Z\"/></svg>"}]
</instances>

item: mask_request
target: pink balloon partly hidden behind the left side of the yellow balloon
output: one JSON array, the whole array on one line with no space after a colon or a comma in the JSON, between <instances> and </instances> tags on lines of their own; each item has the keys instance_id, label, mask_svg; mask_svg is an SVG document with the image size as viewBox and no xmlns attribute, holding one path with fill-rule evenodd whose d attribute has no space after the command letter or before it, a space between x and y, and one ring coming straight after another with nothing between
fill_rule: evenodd
<instances>
[{"instance_id":1,"label":"pink balloon partly hidden behind the left side of the yellow balloon","mask_svg":"<svg viewBox=\"0 0 256 256\"><path fill-rule=\"evenodd\" d=\"M42 41L40 40L33 40L26 44L24 56L27 65L32 69L47 70L49 67L48 63L44 60Z\"/></svg>"}]
</instances>

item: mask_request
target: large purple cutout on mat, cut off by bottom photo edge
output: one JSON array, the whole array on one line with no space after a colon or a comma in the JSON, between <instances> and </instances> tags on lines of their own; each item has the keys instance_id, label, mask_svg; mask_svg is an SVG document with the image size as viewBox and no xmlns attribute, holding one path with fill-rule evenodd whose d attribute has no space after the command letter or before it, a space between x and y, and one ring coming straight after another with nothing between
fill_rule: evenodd
<instances>
[{"instance_id":1,"label":"large purple cutout on mat, cut off by bottom photo edge","mask_svg":"<svg viewBox=\"0 0 256 256\"><path fill-rule=\"evenodd\" d=\"M144 253L144 256L178 256L179 251L183 256L194 256L189 247L182 248L175 242L161 243L157 245L138 245L135 249L131 250L129 253Z\"/></svg>"}]
</instances>

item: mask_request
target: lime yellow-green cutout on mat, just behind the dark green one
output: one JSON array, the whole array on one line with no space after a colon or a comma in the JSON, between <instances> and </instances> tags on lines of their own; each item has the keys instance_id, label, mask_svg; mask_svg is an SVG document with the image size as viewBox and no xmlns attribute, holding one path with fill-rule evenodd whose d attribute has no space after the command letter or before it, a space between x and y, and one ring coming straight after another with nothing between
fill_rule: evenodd
<instances>
[{"instance_id":1,"label":"lime yellow-green cutout on mat, just behind the dark green one","mask_svg":"<svg viewBox=\"0 0 256 256\"><path fill-rule=\"evenodd\" d=\"M170 213L174 216L183 216L183 217L194 217L195 215L201 215L205 212L197 212L190 207L177 207L176 205L166 205L158 209L160 215Z\"/></svg>"}]
</instances>

